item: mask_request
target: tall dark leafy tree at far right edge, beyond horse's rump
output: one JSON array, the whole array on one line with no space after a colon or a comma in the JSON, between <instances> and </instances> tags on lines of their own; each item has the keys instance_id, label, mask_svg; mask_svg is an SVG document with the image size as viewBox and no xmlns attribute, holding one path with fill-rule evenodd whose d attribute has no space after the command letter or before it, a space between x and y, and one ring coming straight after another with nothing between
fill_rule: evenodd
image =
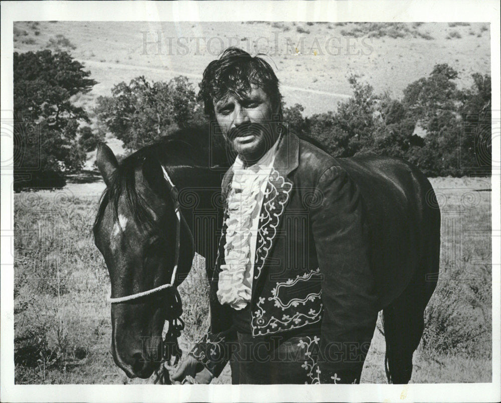
<instances>
[{"instance_id":1,"label":"tall dark leafy tree at far right edge, beyond horse's rump","mask_svg":"<svg viewBox=\"0 0 501 403\"><path fill-rule=\"evenodd\" d=\"M485 174L491 166L490 76L473 74L473 85L459 90L458 73L436 65L428 78L404 90L404 107L426 129L424 147L409 159L428 174Z\"/></svg>"}]
</instances>

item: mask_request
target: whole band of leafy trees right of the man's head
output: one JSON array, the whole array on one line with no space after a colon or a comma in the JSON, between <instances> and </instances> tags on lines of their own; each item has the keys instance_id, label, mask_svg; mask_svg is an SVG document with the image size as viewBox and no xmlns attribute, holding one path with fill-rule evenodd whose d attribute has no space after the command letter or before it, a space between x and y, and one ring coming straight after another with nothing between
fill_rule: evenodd
<instances>
[{"instance_id":1,"label":"whole band of leafy trees right of the man's head","mask_svg":"<svg viewBox=\"0 0 501 403\"><path fill-rule=\"evenodd\" d=\"M303 117L304 108L284 107L291 129L322 142L337 157L362 154L400 157L429 176L486 174L490 168L490 76L473 74L459 90L458 73L447 64L407 86L401 100L376 94L357 76L353 97L337 111ZM425 129L416 135L416 127Z\"/></svg>"}]
</instances>

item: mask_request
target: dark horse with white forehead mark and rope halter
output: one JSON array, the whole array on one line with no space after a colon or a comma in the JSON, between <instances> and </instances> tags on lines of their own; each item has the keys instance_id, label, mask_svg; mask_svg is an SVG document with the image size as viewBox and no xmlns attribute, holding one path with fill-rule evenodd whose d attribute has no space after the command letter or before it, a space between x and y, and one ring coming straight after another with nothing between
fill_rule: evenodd
<instances>
[{"instance_id":1,"label":"dark horse with white forehead mark and rope halter","mask_svg":"<svg viewBox=\"0 0 501 403\"><path fill-rule=\"evenodd\" d=\"M205 257L211 277L222 224L221 178L230 160L222 139L203 128L179 131L120 164L106 145L99 146L97 164L107 189L94 236L109 270L112 298L170 283L176 263L174 286L180 284L195 252ZM388 381L406 383L423 333L423 312L438 279L435 194L427 178L402 160L354 157L338 162L359 186L367 208ZM163 169L177 187L174 195ZM176 200L186 219L180 228ZM171 287L112 304L112 353L128 376L147 378L159 366L162 328L172 318L174 293Z\"/></svg>"}]
</instances>

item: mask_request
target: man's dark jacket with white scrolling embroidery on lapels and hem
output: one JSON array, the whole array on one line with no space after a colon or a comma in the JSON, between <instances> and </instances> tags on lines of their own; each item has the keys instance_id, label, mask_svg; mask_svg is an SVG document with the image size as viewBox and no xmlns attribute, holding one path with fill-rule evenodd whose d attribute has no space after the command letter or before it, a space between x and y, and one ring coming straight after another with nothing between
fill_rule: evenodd
<instances>
[{"instance_id":1,"label":"man's dark jacket with white scrolling embroidery on lapels and hem","mask_svg":"<svg viewBox=\"0 0 501 403\"><path fill-rule=\"evenodd\" d=\"M230 168L223 196L231 180ZM210 281L211 327L190 353L215 376L236 336L230 308L216 296L225 232L223 225ZM368 236L360 191L346 171L312 144L285 135L261 210L250 325L259 337L321 322L321 382L360 380L379 310Z\"/></svg>"}]
</instances>

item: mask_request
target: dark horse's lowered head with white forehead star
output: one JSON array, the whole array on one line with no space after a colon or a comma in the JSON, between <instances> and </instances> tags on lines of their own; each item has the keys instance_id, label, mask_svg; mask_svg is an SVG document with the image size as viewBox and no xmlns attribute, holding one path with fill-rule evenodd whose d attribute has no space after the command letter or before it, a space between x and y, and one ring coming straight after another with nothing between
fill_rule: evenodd
<instances>
[{"instance_id":1,"label":"dark horse's lowered head with white forehead star","mask_svg":"<svg viewBox=\"0 0 501 403\"><path fill-rule=\"evenodd\" d=\"M107 188L94 238L108 267L112 298L169 284L176 248L177 279L191 268L194 253L189 230L180 227L178 244L172 188L160 162L151 154L135 153L119 165L108 146L98 148L97 165ZM162 329L172 297L173 289L165 289L111 304L113 358L129 377L147 378L158 367Z\"/></svg>"}]
</instances>

